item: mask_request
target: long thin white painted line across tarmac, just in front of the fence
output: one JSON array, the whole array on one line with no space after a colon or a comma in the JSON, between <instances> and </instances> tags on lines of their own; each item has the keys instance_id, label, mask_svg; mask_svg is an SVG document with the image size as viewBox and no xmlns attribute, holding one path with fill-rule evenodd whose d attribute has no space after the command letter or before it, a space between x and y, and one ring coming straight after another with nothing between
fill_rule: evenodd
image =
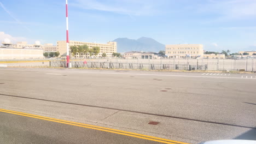
<instances>
[{"instance_id":1,"label":"long thin white painted line across tarmac, just in front of the fence","mask_svg":"<svg viewBox=\"0 0 256 144\"><path fill-rule=\"evenodd\" d=\"M207 78L221 78L221 79L241 79L241 77L223 77L223 76L196 76L196 75L167 75L167 74L136 74L136 73L107 73L107 72L90 72L90 71L68 71L63 70L25 70L25 69L1 69L1 70L20 70L20 71L53 71L53 72L63 72L66 73L85 73L85 74L114 74L114 75L147 75L147 76L177 76L177 77L207 77ZM207 75L207 74L206 74ZM255 78L253 78L255 79ZM256 79L255 79L256 80Z\"/></svg>"}]
</instances>

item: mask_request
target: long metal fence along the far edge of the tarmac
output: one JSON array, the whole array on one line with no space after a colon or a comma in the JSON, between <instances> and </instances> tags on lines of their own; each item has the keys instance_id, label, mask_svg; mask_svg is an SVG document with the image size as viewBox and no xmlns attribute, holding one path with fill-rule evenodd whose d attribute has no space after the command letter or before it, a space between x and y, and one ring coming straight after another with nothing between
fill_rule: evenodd
<instances>
[{"instance_id":1,"label":"long metal fence along the far edge of the tarmac","mask_svg":"<svg viewBox=\"0 0 256 144\"><path fill-rule=\"evenodd\" d=\"M72 61L74 68L150 70L235 70L256 71L256 61L247 59L89 59ZM65 61L51 61L51 67L66 67Z\"/></svg>"}]
</instances>

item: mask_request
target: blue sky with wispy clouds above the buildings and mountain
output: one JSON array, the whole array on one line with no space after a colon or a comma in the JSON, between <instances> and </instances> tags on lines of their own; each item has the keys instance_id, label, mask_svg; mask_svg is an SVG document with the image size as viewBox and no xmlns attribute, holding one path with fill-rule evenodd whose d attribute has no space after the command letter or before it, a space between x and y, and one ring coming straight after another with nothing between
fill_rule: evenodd
<instances>
[{"instance_id":1,"label":"blue sky with wispy clouds above the buildings and mountain","mask_svg":"<svg viewBox=\"0 0 256 144\"><path fill-rule=\"evenodd\" d=\"M0 0L0 40L65 40L65 3ZM68 6L70 40L149 37L211 51L256 50L255 0L69 0Z\"/></svg>"}]
</instances>

